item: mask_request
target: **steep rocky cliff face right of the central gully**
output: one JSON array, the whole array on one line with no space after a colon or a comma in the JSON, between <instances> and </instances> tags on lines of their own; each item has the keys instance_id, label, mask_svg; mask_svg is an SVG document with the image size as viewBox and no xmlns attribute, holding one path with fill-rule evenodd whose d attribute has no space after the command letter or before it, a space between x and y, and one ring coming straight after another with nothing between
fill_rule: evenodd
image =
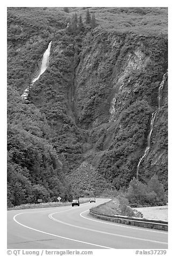
<instances>
[{"instance_id":1,"label":"steep rocky cliff face right of the central gully","mask_svg":"<svg viewBox=\"0 0 175 256\"><path fill-rule=\"evenodd\" d=\"M93 33L75 74L74 112L88 134L84 157L119 188L127 186L147 146L151 113L167 69L166 38ZM140 179L167 177L167 82ZM165 186L166 187L166 186Z\"/></svg>"}]
</instances>

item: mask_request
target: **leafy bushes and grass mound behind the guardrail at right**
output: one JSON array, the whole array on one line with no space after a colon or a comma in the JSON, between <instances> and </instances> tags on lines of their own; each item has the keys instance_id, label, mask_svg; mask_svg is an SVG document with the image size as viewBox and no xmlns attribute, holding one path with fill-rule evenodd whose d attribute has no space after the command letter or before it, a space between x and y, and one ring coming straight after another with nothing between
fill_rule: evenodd
<instances>
[{"instance_id":1,"label":"leafy bushes and grass mound behind the guardrail at right","mask_svg":"<svg viewBox=\"0 0 175 256\"><path fill-rule=\"evenodd\" d=\"M141 212L132 207L164 205L166 202L166 193L156 175L151 177L148 184L134 177L127 189L124 187L119 189L110 202L100 204L93 210L99 214L143 217Z\"/></svg>"}]
</instances>

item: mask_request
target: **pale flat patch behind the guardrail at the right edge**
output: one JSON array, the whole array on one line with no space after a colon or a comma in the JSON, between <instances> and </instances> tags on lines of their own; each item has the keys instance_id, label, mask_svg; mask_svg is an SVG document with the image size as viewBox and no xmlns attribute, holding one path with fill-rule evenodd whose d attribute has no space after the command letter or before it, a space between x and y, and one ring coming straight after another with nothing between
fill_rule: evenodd
<instances>
[{"instance_id":1,"label":"pale flat patch behind the guardrail at the right edge","mask_svg":"<svg viewBox=\"0 0 175 256\"><path fill-rule=\"evenodd\" d=\"M167 205L163 206L153 206L153 207L141 207L133 208L143 214L143 218L147 219L157 219L159 221L168 221L168 207Z\"/></svg>"}]
</instances>

